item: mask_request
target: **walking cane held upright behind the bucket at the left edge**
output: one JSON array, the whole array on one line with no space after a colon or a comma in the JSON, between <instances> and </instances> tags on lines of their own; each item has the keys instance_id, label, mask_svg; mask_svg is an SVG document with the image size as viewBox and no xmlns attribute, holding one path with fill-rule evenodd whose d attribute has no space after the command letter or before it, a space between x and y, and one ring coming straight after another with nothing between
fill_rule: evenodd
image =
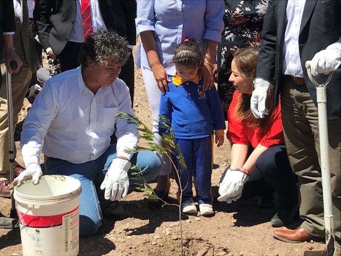
<instances>
[{"instance_id":1,"label":"walking cane held upright behind the bucket at the left edge","mask_svg":"<svg viewBox=\"0 0 341 256\"><path fill-rule=\"evenodd\" d=\"M16 69L18 63L14 60L10 62L11 69ZM8 134L9 134L9 161L10 161L10 181L14 180L14 131L13 131L13 102L12 102L12 77L6 70L6 87L7 87L7 108L8 108ZM15 200L11 196L10 218L16 219Z\"/></svg>"}]
</instances>

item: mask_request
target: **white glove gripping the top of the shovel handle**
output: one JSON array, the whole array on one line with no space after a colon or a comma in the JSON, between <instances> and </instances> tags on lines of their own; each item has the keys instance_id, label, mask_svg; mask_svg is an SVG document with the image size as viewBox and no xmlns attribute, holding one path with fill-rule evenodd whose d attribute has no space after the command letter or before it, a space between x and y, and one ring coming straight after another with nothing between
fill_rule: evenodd
<instances>
[{"instance_id":1,"label":"white glove gripping the top of the shovel handle","mask_svg":"<svg viewBox=\"0 0 341 256\"><path fill-rule=\"evenodd\" d=\"M335 42L328 46L326 50L319 51L315 54L310 62L310 72L313 76L324 73L327 75L331 71L335 71L341 63L341 44Z\"/></svg>"}]
</instances>

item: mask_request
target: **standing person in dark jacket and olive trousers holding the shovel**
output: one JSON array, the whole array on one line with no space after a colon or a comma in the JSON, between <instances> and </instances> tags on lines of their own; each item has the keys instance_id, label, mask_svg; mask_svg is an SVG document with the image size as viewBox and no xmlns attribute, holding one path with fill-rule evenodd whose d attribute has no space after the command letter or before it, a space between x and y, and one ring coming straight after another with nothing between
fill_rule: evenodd
<instances>
[{"instance_id":1,"label":"standing person in dark jacket and olive trousers holding the shovel","mask_svg":"<svg viewBox=\"0 0 341 256\"><path fill-rule=\"evenodd\" d=\"M327 118L334 234L340 243L340 5L339 0L274 0L264 18L250 104L254 116L264 118L267 90L274 87L275 99L281 94L287 153L299 179L304 220L295 230L274 230L273 236L285 242L325 237L316 89L305 68L311 60L318 83L333 71L327 87Z\"/></svg>"}]
</instances>

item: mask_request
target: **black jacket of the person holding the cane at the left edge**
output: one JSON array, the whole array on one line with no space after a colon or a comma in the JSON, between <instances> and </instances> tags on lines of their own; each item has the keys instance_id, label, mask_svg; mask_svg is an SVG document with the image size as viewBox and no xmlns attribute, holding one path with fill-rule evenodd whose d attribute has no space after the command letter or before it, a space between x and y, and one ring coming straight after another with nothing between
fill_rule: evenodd
<instances>
[{"instance_id":1,"label":"black jacket of the person holding the cane at the left edge","mask_svg":"<svg viewBox=\"0 0 341 256\"><path fill-rule=\"evenodd\" d=\"M4 57L4 32L15 32L14 8L12 0L0 1L0 60L2 60Z\"/></svg>"}]
</instances>

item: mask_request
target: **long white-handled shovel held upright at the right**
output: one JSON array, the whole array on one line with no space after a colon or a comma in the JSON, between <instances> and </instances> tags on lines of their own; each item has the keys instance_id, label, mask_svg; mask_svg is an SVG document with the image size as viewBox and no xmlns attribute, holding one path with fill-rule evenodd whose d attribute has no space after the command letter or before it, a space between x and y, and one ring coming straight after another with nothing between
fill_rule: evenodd
<instances>
[{"instance_id":1,"label":"long white-handled shovel held upright at the right","mask_svg":"<svg viewBox=\"0 0 341 256\"><path fill-rule=\"evenodd\" d=\"M325 219L325 234L327 244L327 255L333 255L335 248L333 212L332 212L332 193L330 182L330 166L329 166L329 143L328 143L328 125L327 125L327 96L326 87L330 82L333 73L329 73L324 83L318 84L312 77L310 72L310 61L306 61L306 69L310 81L316 87L317 113L318 113L318 133L319 148L321 152L321 173L322 173L322 192L323 192L323 209Z\"/></svg>"}]
</instances>

